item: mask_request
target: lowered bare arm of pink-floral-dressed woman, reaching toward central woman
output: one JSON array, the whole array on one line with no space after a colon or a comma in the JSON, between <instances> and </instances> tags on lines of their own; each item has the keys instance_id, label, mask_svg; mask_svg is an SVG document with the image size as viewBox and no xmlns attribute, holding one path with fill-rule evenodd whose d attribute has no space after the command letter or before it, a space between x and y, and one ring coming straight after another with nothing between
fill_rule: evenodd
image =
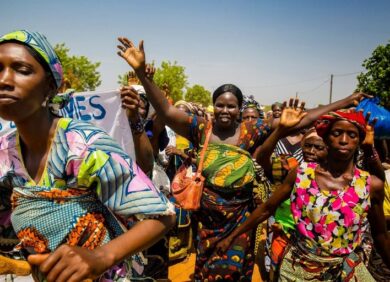
<instances>
[{"instance_id":1,"label":"lowered bare arm of pink-floral-dressed woman, reaching toward central woman","mask_svg":"<svg viewBox=\"0 0 390 282\"><path fill-rule=\"evenodd\" d=\"M259 223L273 215L278 206L290 197L296 178L297 170L293 169L288 173L280 188L275 190L267 202L258 206L243 224L234 229L234 231L229 236L227 236L225 239L222 239L217 244L217 251L221 254L226 252L234 238L244 232L247 232L248 230L253 229L259 225Z\"/></svg>"}]
</instances>

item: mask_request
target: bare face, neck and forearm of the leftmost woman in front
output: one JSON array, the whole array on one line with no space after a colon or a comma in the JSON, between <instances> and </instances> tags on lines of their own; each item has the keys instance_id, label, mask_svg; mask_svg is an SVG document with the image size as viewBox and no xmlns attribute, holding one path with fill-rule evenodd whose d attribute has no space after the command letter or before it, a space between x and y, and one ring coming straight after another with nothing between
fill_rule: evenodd
<instances>
[{"instance_id":1,"label":"bare face, neck and forearm of the leftmost woman in front","mask_svg":"<svg viewBox=\"0 0 390 282\"><path fill-rule=\"evenodd\" d=\"M35 182L41 179L58 122L44 103L55 92L43 66L24 45L0 44L0 117L15 122L24 166ZM92 251L62 245L50 254L30 255L28 261L39 266L49 282L96 278L158 241L174 222L174 216L144 220Z\"/></svg>"}]
</instances>

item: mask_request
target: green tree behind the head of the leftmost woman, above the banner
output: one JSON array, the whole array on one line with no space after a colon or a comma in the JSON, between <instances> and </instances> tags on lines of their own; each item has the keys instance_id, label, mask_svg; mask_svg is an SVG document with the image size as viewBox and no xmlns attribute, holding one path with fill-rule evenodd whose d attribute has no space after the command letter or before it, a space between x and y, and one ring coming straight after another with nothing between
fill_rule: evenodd
<instances>
[{"instance_id":1,"label":"green tree behind the head of the leftmost woman, above the banner","mask_svg":"<svg viewBox=\"0 0 390 282\"><path fill-rule=\"evenodd\" d=\"M101 84L100 73L97 68L100 62L92 63L85 56L69 55L69 48L65 43L57 44L54 49L61 60L64 71L64 81L68 88L76 91L95 90Z\"/></svg>"}]
</instances>

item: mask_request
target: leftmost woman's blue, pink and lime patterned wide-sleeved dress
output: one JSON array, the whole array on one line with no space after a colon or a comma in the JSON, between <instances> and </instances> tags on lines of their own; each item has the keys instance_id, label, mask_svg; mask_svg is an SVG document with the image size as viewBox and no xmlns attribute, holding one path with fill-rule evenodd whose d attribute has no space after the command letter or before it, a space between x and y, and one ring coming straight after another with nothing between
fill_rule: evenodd
<instances>
[{"instance_id":1,"label":"leftmost woman's blue, pink and lime patterned wide-sleeved dress","mask_svg":"<svg viewBox=\"0 0 390 282\"><path fill-rule=\"evenodd\" d=\"M13 191L12 225L29 253L61 244L92 250L124 232L120 221L174 212L119 145L89 123L59 119L38 182L24 166L17 132L1 137L0 160L0 187ZM128 281L131 270L124 261L101 280Z\"/></svg>"}]
</instances>

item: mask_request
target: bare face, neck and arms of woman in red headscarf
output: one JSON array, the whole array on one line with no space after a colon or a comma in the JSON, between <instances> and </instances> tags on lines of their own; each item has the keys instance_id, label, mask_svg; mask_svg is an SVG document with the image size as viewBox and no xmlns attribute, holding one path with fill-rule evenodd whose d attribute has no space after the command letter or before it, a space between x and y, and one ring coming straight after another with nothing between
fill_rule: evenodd
<instances>
[{"instance_id":1,"label":"bare face, neck and arms of woman in red headscarf","mask_svg":"<svg viewBox=\"0 0 390 282\"><path fill-rule=\"evenodd\" d=\"M315 171L316 182L321 190L344 190L349 186L353 177L353 156L359 145L358 133L357 127L348 121L337 121L333 124L325 140L329 148L326 162L319 164ZM223 253L235 237L274 214L277 207L290 197L296 177L296 169L290 171L284 183L272 194L271 198L257 207L245 223L218 243L219 251ZM368 220L371 225L371 234L384 262L390 266L390 236L386 232L383 213L383 181L374 175L371 175L370 198L371 207Z\"/></svg>"}]
</instances>

